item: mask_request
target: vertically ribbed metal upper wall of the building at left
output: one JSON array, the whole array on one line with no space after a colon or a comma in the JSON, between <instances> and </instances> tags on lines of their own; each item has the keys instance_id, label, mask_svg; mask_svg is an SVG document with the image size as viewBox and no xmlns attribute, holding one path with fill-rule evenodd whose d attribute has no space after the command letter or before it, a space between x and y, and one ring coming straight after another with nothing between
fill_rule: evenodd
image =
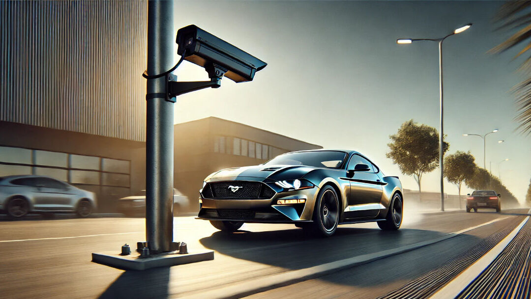
<instances>
[{"instance_id":1,"label":"vertically ribbed metal upper wall of the building at left","mask_svg":"<svg viewBox=\"0 0 531 299\"><path fill-rule=\"evenodd\" d=\"M147 1L0 1L0 120L145 139Z\"/></svg>"}]
</instances>

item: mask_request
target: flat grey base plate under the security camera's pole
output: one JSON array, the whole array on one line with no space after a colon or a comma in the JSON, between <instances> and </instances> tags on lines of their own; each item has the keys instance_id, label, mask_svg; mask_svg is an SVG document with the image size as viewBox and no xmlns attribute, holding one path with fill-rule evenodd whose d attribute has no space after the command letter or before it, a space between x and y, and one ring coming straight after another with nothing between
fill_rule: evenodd
<instances>
[{"instance_id":1,"label":"flat grey base plate under the security camera's pole","mask_svg":"<svg viewBox=\"0 0 531 299\"><path fill-rule=\"evenodd\" d=\"M214 252L211 250L195 251L185 254L167 252L153 254L152 256L140 258L140 254L133 252L128 256L121 256L119 252L107 251L92 253L92 261L123 270L145 270L156 267L170 267L183 265L185 263L208 261L214 259Z\"/></svg>"}]
</instances>

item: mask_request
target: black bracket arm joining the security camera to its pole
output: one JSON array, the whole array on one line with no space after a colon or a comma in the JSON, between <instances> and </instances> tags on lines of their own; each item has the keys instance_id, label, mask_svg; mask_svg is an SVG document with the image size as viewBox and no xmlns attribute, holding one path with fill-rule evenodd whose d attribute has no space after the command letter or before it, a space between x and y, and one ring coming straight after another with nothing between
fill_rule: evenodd
<instances>
[{"instance_id":1,"label":"black bracket arm joining the security camera to its pole","mask_svg":"<svg viewBox=\"0 0 531 299\"><path fill-rule=\"evenodd\" d=\"M175 97L181 94L189 93L196 90L205 89L208 87L218 88L221 86L221 78L227 72L226 68L223 68L216 64L207 64L204 67L208 73L210 81L192 81L192 82L177 82L177 76L168 74L167 78L167 101L176 102Z\"/></svg>"}]
</instances>

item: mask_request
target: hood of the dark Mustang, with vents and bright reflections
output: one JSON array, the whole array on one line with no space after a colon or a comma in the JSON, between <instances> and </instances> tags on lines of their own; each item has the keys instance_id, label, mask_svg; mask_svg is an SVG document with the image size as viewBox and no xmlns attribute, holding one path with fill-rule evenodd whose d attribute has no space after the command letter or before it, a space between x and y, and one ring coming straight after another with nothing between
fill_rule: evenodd
<instances>
[{"instance_id":1,"label":"hood of the dark Mustang, with vents and bright reflections","mask_svg":"<svg viewBox=\"0 0 531 299\"><path fill-rule=\"evenodd\" d=\"M223 169L210 174L205 181L239 180L244 178L262 178L271 180L290 180L304 177L316 169L303 165L255 165Z\"/></svg>"}]
</instances>

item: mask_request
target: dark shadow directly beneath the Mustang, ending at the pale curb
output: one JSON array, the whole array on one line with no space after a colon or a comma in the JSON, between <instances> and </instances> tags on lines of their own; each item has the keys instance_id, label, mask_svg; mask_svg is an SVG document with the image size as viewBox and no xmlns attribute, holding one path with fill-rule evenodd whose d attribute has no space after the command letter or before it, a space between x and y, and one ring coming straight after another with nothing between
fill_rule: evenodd
<instances>
[{"instance_id":1,"label":"dark shadow directly beneath the Mustang, ending at the pale curb","mask_svg":"<svg viewBox=\"0 0 531 299\"><path fill-rule=\"evenodd\" d=\"M381 231L378 228L338 227L331 238L310 237L301 229L227 234L216 232L200 240L208 249L228 256L296 270L323 263L397 248L444 233L404 229Z\"/></svg>"}]
</instances>

